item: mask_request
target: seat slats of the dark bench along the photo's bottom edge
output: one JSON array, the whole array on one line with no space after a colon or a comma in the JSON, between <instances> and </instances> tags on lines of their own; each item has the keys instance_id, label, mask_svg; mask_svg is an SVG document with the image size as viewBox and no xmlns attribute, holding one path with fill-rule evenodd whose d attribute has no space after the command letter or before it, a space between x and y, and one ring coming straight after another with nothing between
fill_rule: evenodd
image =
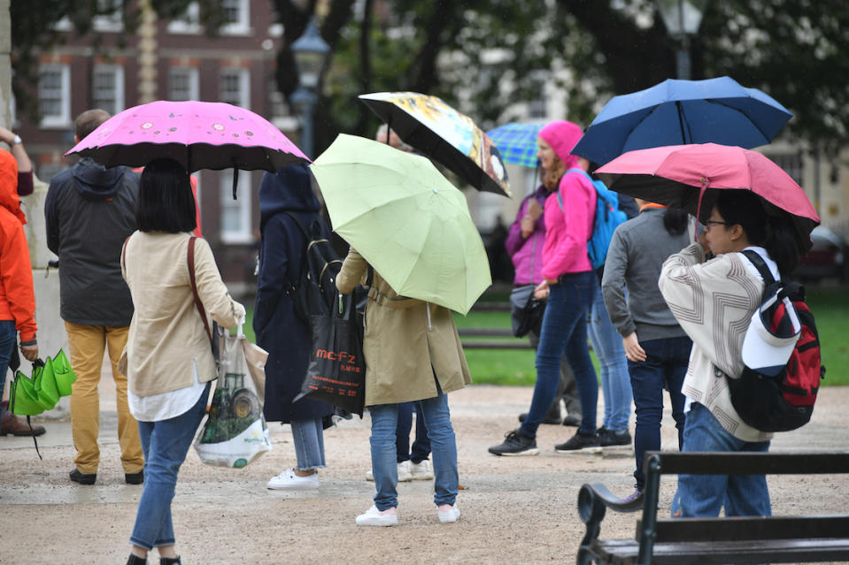
<instances>
[{"instance_id":1,"label":"seat slats of the dark bench along the photo's bottom edge","mask_svg":"<svg viewBox=\"0 0 849 565\"><path fill-rule=\"evenodd\" d=\"M596 539L591 551L616 565L637 561L639 544L628 539ZM723 563L796 563L846 561L849 540L782 539L771 541L725 541L656 544L653 565L722 565Z\"/></svg>"}]
</instances>

